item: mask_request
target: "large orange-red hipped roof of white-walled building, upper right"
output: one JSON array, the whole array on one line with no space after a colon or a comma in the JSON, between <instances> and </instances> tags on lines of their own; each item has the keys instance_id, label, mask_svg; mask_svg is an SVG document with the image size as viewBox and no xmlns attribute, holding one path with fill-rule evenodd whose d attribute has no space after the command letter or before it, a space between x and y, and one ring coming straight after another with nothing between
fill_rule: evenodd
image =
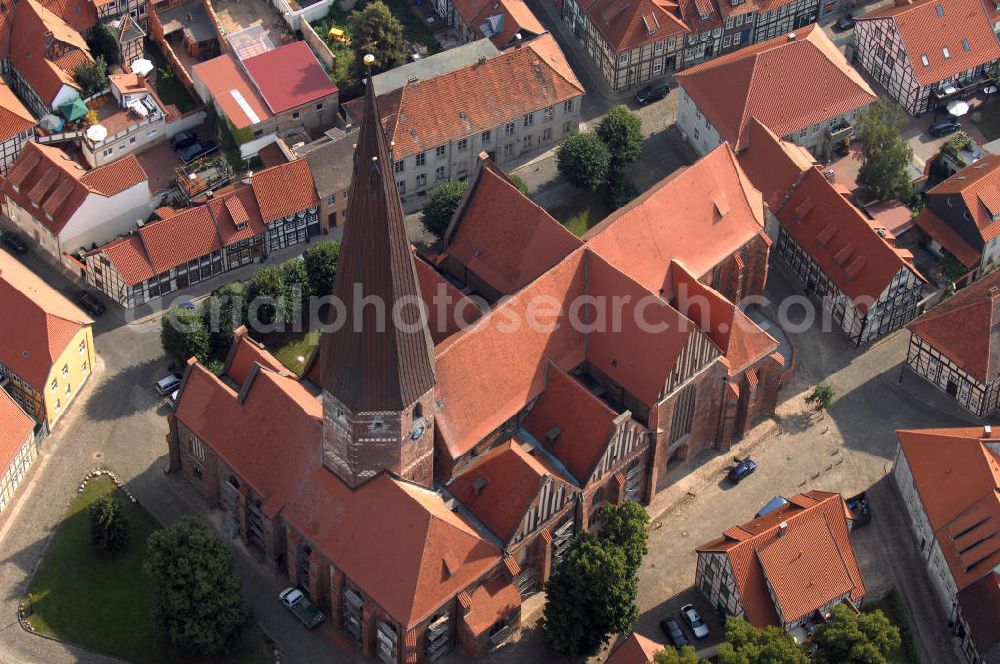
<instances>
[{"instance_id":1,"label":"large orange-red hipped roof of white-walled building, upper right","mask_svg":"<svg viewBox=\"0 0 1000 664\"><path fill-rule=\"evenodd\" d=\"M796 30L792 41L782 35L676 76L737 150L746 144L751 116L787 136L875 99L875 91L815 24Z\"/></svg>"}]
</instances>

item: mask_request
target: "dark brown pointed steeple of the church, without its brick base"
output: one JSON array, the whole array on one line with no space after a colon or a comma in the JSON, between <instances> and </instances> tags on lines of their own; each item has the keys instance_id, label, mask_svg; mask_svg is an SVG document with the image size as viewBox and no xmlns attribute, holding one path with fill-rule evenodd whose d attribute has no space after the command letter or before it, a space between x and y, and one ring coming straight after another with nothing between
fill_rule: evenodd
<instances>
[{"instance_id":1,"label":"dark brown pointed steeple of the church, without its brick base","mask_svg":"<svg viewBox=\"0 0 1000 664\"><path fill-rule=\"evenodd\" d=\"M420 324L416 269L371 76L354 157L333 288L346 321L321 341L321 387L355 413L402 411L434 387L434 345Z\"/></svg>"}]
</instances>

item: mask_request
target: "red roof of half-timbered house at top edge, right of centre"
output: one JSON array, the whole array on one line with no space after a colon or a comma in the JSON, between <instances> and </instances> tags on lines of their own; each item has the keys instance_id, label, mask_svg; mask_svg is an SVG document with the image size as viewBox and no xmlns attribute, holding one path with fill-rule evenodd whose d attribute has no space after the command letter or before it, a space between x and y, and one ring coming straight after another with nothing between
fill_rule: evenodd
<instances>
[{"instance_id":1,"label":"red roof of half-timbered house at top edge, right of centre","mask_svg":"<svg viewBox=\"0 0 1000 664\"><path fill-rule=\"evenodd\" d=\"M690 32L673 0L595 0L583 10L615 53Z\"/></svg>"}]
</instances>

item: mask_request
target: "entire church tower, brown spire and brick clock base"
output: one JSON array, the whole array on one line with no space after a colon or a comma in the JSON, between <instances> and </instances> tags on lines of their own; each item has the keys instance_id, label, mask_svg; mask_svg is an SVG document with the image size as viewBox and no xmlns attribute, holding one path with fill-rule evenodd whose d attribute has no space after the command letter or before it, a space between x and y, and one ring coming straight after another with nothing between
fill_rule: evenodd
<instances>
[{"instance_id":1,"label":"entire church tower, brown spire and brick clock base","mask_svg":"<svg viewBox=\"0 0 1000 664\"><path fill-rule=\"evenodd\" d=\"M321 343L323 465L355 488L384 470L430 486L434 345L369 77L335 301Z\"/></svg>"}]
</instances>

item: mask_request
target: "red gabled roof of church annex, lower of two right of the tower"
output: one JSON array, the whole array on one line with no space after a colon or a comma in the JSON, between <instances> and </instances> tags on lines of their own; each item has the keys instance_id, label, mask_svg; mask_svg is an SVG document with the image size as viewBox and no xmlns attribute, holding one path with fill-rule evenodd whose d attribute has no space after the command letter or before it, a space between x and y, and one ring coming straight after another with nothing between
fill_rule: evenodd
<instances>
[{"instance_id":1,"label":"red gabled roof of church annex, lower of two right of the tower","mask_svg":"<svg viewBox=\"0 0 1000 664\"><path fill-rule=\"evenodd\" d=\"M525 514L542 487L553 482L552 491L561 486L564 500L568 500L572 487L554 479L542 462L514 438L478 458L473 468L448 485L448 490L497 539L509 544L516 535L523 534Z\"/></svg>"}]
</instances>

